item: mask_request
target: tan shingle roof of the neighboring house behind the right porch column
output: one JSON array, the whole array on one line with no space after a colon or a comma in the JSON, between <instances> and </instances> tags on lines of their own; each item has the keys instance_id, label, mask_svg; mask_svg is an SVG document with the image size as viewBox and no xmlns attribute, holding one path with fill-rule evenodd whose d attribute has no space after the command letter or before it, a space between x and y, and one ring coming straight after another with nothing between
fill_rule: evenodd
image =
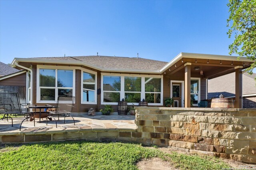
<instances>
[{"instance_id":1,"label":"tan shingle roof of the neighboring house behind the right porch column","mask_svg":"<svg viewBox=\"0 0 256 170\"><path fill-rule=\"evenodd\" d=\"M247 72L242 74L242 93L256 94L256 73L249 75ZM235 96L235 72L208 80L208 99L218 98L220 94L225 97Z\"/></svg>"}]
</instances>

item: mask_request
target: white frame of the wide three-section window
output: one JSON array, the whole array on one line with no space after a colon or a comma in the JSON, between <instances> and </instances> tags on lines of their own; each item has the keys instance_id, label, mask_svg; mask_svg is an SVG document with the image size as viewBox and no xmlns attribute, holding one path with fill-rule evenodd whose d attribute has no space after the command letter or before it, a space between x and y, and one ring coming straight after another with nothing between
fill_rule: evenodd
<instances>
[{"instance_id":1,"label":"white frame of the wide three-section window","mask_svg":"<svg viewBox=\"0 0 256 170\"><path fill-rule=\"evenodd\" d=\"M148 103L148 106L162 106L163 105L163 76L162 75L140 75L140 74L118 74L118 73L101 73L101 104L102 105L118 105L118 102L104 102L104 92L113 92L113 91L103 91L103 76L120 76L121 78L121 90L120 91L114 91L114 92L120 92L120 101L124 98L124 77L141 77L141 92L140 93L140 101L142 99L145 99L146 93L157 93L161 95L161 101L160 103ZM152 78L161 78L161 92L145 92L145 78L146 77L152 77ZM126 92L129 93L129 92ZM136 92L131 92L136 93ZM138 105L139 103L128 103L128 105Z\"/></svg>"}]
</instances>

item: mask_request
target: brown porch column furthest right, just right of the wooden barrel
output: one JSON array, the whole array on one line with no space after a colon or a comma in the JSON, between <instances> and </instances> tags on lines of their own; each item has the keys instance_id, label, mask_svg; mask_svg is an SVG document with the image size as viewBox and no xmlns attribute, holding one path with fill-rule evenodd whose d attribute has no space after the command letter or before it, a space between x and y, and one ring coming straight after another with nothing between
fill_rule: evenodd
<instances>
[{"instance_id":1,"label":"brown porch column furthest right, just right of the wooden barrel","mask_svg":"<svg viewBox=\"0 0 256 170\"><path fill-rule=\"evenodd\" d=\"M242 108L242 68L243 66L236 66L236 98L235 108Z\"/></svg>"}]
</instances>

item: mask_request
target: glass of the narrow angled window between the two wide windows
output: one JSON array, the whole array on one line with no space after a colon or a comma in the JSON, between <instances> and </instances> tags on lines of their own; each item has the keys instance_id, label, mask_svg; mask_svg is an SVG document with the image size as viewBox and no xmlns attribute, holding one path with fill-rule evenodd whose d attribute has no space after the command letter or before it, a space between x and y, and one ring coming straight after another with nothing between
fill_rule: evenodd
<instances>
[{"instance_id":1,"label":"glass of the narrow angled window between the two wide windows","mask_svg":"<svg viewBox=\"0 0 256 170\"><path fill-rule=\"evenodd\" d=\"M96 74L82 72L82 103L96 104Z\"/></svg>"}]
</instances>

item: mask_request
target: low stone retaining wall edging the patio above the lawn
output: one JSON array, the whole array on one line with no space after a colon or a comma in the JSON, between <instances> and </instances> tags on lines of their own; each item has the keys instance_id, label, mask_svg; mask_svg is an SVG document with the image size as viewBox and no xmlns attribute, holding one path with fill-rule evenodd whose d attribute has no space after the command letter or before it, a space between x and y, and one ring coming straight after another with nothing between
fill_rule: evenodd
<instances>
[{"instance_id":1,"label":"low stone retaining wall edging the patio above the lawn","mask_svg":"<svg viewBox=\"0 0 256 170\"><path fill-rule=\"evenodd\" d=\"M86 141L127 141L136 142L137 132L130 130L92 131L87 129L53 132L27 132L0 135L0 143L33 143L47 141L86 140Z\"/></svg>"}]
</instances>

